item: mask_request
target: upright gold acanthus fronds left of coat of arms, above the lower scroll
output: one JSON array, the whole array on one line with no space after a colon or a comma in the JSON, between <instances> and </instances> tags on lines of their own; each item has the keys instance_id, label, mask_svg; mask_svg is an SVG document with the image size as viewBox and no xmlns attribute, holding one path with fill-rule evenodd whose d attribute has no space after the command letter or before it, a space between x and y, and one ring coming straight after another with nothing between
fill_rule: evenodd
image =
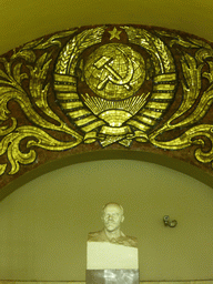
<instances>
[{"instance_id":1,"label":"upright gold acanthus fronds left of coat of arms, above the lower scroll","mask_svg":"<svg viewBox=\"0 0 213 284\"><path fill-rule=\"evenodd\" d=\"M64 131L68 134L71 134L73 138L81 140L81 135L79 135L75 131L68 128L64 122L62 122L55 113L52 112L52 110L49 108L47 102L47 94L49 90L49 84L47 84L43 88L43 82L47 77L47 72L49 69L49 64L51 62L50 60L47 60L48 55L44 53L42 57L39 58L34 70L32 67L29 67L31 70L32 79L30 81L30 90L32 91L32 97L36 100L36 103L38 106L42 108L45 114L57 120L59 125L52 124L51 122L48 122L45 119L39 115L39 113L36 112L33 109L31 101L26 93L26 91L21 87L21 81L23 79L27 79L28 75L26 73L21 73L21 63L17 63L13 67L13 71L11 75L10 65L11 62L8 62L4 58L0 58L0 62L4 64L7 74L2 71L0 74L2 78L6 78L7 81L2 81L3 85L0 85L0 121L8 120L8 114L10 113L8 110L8 102L10 100L17 101L20 106L22 108L23 112L28 116L28 119L40 125L41 128L57 130L57 131ZM47 61L45 61L47 60ZM13 126L10 126L8 129L13 129ZM4 129L1 129L2 132L4 132Z\"/></svg>"}]
</instances>

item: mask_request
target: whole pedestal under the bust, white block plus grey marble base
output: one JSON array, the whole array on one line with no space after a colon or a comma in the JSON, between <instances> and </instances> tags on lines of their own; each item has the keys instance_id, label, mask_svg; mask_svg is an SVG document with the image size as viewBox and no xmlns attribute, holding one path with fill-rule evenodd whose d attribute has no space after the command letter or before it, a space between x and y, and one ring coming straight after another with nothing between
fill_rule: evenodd
<instances>
[{"instance_id":1,"label":"whole pedestal under the bust, white block plus grey marble base","mask_svg":"<svg viewBox=\"0 0 213 284\"><path fill-rule=\"evenodd\" d=\"M139 284L138 248L88 242L87 284Z\"/></svg>"}]
</instances>

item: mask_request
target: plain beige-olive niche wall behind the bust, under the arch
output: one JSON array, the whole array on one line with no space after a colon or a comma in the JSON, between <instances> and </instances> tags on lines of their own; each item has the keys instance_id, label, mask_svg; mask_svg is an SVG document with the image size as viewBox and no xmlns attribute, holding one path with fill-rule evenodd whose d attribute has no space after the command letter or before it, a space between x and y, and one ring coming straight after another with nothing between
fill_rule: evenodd
<instances>
[{"instance_id":1,"label":"plain beige-olive niche wall behind the bust, under the arch","mask_svg":"<svg viewBox=\"0 0 213 284\"><path fill-rule=\"evenodd\" d=\"M161 165L112 160L48 173L0 203L0 280L84 281L87 235L109 201L124 206L123 231L139 239L142 281L213 278L213 190Z\"/></svg>"}]
</instances>

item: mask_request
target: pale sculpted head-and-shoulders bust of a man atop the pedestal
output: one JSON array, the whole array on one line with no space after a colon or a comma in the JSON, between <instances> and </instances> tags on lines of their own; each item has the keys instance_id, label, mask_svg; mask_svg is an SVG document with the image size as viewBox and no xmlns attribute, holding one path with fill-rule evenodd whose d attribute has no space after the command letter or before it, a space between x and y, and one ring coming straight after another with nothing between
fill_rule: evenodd
<instances>
[{"instance_id":1,"label":"pale sculpted head-and-shoulders bust of a man atop the pedestal","mask_svg":"<svg viewBox=\"0 0 213 284\"><path fill-rule=\"evenodd\" d=\"M136 247L136 239L126 236L121 231L121 223L124 221L123 207L114 202L105 204L101 216L104 227L94 233L89 233L89 242L110 242L125 246Z\"/></svg>"}]
</instances>

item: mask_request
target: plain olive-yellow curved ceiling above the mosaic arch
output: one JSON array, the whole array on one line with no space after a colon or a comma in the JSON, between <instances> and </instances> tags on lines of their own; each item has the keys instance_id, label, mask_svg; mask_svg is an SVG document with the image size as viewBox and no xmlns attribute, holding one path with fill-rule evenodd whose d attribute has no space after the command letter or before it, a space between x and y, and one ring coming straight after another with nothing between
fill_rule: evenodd
<instances>
[{"instance_id":1,"label":"plain olive-yellow curved ceiling above the mosaic arch","mask_svg":"<svg viewBox=\"0 0 213 284\"><path fill-rule=\"evenodd\" d=\"M211 0L1 0L0 54L55 31L101 23L140 23L212 36Z\"/></svg>"}]
</instances>

